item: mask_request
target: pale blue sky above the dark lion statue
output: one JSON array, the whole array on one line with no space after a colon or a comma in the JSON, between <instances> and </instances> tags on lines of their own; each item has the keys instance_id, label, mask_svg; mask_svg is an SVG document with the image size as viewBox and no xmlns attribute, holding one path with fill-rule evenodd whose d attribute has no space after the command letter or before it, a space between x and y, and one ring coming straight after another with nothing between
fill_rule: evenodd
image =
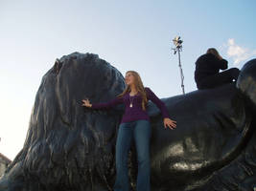
<instances>
[{"instance_id":1,"label":"pale blue sky above the dark lion statue","mask_svg":"<svg viewBox=\"0 0 256 191\"><path fill-rule=\"evenodd\" d=\"M181 94L172 39L184 40L186 93L195 61L217 48L229 68L256 57L256 1L0 0L0 152L22 148L40 80L64 54L97 53L122 74L135 70L159 97Z\"/></svg>"}]
</instances>

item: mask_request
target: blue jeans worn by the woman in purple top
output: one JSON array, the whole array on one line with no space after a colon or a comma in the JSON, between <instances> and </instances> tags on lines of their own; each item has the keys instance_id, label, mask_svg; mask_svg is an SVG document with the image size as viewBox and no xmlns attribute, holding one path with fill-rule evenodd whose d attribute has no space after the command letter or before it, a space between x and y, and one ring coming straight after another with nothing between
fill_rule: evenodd
<instances>
[{"instance_id":1,"label":"blue jeans worn by the woman in purple top","mask_svg":"<svg viewBox=\"0 0 256 191\"><path fill-rule=\"evenodd\" d=\"M116 181L115 191L129 191L128 181L128 151L134 140L137 161L137 191L151 190L151 160L150 160L151 123L148 120L135 120L121 123L116 142Z\"/></svg>"}]
</instances>

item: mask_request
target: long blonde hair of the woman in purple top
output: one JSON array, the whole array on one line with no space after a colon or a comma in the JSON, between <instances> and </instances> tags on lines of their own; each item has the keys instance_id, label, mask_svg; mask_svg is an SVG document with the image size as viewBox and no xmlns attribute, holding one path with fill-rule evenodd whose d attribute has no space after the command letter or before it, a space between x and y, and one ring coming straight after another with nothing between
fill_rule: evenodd
<instances>
[{"instance_id":1,"label":"long blonde hair of the woman in purple top","mask_svg":"<svg viewBox=\"0 0 256 191\"><path fill-rule=\"evenodd\" d=\"M140 95L142 96L142 109L146 111L146 106L147 106L147 103L148 103L148 98L147 98L146 91L145 91L145 88L143 86L141 77L135 71L128 71L126 74L128 74L128 73L132 74L134 76L134 78L135 78L134 85L135 85L138 93L140 93ZM130 87L127 86L126 89L124 90L124 92L121 93L120 95L118 95L118 97L122 97L126 93L129 93L129 92L130 92Z\"/></svg>"}]
</instances>

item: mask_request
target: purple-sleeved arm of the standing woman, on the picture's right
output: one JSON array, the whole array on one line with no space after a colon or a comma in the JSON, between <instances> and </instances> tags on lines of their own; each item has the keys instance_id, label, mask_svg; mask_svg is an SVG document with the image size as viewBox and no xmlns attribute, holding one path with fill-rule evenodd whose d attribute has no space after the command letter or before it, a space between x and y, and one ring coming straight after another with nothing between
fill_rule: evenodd
<instances>
[{"instance_id":1,"label":"purple-sleeved arm of the standing woman, on the picture's right","mask_svg":"<svg viewBox=\"0 0 256 191\"><path fill-rule=\"evenodd\" d=\"M157 96L155 96L155 94L151 91L150 88L145 87L145 90L147 92L148 98L159 108L159 110L161 111L161 114L164 118L170 118L167 108L164 104L163 101L161 101L161 99L159 99Z\"/></svg>"}]
</instances>

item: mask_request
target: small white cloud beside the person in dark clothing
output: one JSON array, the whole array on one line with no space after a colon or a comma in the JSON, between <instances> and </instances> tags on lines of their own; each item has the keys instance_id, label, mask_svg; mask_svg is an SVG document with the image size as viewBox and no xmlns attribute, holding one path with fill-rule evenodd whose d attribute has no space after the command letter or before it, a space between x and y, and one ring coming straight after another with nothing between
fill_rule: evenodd
<instances>
[{"instance_id":1,"label":"small white cloud beside the person in dark clothing","mask_svg":"<svg viewBox=\"0 0 256 191\"><path fill-rule=\"evenodd\" d=\"M234 65L240 65L244 60L256 56L256 50L249 50L235 43L235 39L229 38L227 40L227 56L233 59Z\"/></svg>"}]
</instances>

